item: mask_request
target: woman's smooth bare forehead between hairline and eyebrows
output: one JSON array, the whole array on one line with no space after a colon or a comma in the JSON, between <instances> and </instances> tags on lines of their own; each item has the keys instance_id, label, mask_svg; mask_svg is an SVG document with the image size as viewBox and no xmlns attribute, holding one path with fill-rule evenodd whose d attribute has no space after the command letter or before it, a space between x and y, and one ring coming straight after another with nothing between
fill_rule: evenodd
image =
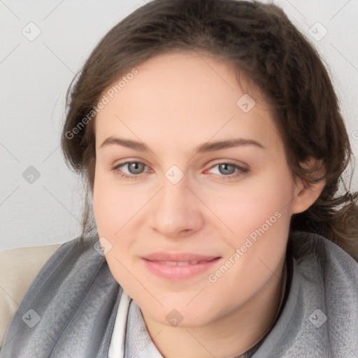
<instances>
[{"instance_id":1,"label":"woman's smooth bare forehead between hairline and eyebrows","mask_svg":"<svg viewBox=\"0 0 358 358\"><path fill-rule=\"evenodd\" d=\"M136 70L125 86L115 87L117 80L103 92L109 101L96 116L97 148L105 136L116 134L137 141L161 136L169 143L178 136L194 142L240 134L264 142L278 139L267 103L258 91L245 92L227 61L196 52L169 52Z\"/></svg>"}]
</instances>

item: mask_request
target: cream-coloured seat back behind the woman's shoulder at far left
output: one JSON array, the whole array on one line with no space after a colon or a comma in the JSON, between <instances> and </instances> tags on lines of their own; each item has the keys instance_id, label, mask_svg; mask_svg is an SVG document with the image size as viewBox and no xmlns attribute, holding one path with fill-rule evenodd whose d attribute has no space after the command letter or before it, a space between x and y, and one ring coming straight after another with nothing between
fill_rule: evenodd
<instances>
[{"instance_id":1,"label":"cream-coloured seat back behind the woman's shoulder at far left","mask_svg":"<svg viewBox=\"0 0 358 358\"><path fill-rule=\"evenodd\" d=\"M6 326L27 287L61 246L62 243L0 251L0 345Z\"/></svg>"}]
</instances>

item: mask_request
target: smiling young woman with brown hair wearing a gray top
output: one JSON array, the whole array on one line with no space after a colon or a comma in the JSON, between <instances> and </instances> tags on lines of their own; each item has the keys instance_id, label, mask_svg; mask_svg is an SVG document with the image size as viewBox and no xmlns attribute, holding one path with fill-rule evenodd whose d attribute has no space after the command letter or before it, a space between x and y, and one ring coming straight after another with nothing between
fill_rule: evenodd
<instances>
[{"instance_id":1,"label":"smiling young woman with brown hair wearing a gray top","mask_svg":"<svg viewBox=\"0 0 358 358\"><path fill-rule=\"evenodd\" d=\"M280 8L134 11L74 80L62 149L83 235L27 289L3 357L355 357L352 152Z\"/></svg>"}]
</instances>

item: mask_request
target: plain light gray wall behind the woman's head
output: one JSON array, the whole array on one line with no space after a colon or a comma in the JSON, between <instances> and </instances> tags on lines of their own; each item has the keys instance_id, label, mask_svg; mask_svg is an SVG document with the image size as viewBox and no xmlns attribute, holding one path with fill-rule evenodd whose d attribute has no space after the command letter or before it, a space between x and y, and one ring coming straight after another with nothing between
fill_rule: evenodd
<instances>
[{"instance_id":1,"label":"plain light gray wall behind the woman's head","mask_svg":"<svg viewBox=\"0 0 358 358\"><path fill-rule=\"evenodd\" d=\"M357 156L358 2L273 2L322 54ZM64 96L99 39L144 3L0 1L0 250L64 243L80 234L83 190L59 148Z\"/></svg>"}]
</instances>

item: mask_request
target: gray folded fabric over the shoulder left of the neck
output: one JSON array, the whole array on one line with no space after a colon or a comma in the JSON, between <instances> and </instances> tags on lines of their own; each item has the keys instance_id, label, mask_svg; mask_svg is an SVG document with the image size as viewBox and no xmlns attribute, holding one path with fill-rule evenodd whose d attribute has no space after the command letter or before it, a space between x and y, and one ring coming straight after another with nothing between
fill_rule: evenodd
<instances>
[{"instance_id":1,"label":"gray folded fabric over the shoulder left of the neck","mask_svg":"<svg viewBox=\"0 0 358 358\"><path fill-rule=\"evenodd\" d=\"M48 357L59 337L70 345L73 336L82 337L76 352L85 352L89 346L98 348L101 335L94 337L88 330L90 321L90 326L96 324L100 330L106 329L108 322L113 325L113 304L119 303L121 290L99 244L98 235L79 236L60 246L43 264L6 327L0 355L15 357L21 351L26 357L37 357L41 347L43 356ZM43 335L49 327L51 336ZM61 343L56 345L62 349Z\"/></svg>"}]
</instances>

